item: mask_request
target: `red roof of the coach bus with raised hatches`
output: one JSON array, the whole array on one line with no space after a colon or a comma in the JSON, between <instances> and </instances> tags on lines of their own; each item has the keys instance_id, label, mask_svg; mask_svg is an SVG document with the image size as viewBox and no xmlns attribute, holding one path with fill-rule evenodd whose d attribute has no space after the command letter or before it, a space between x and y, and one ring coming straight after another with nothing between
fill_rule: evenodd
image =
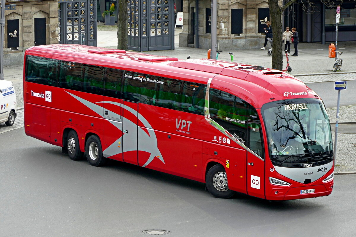
<instances>
[{"instance_id":1,"label":"red roof of the coach bus with raised hatches","mask_svg":"<svg viewBox=\"0 0 356 237\"><path fill-rule=\"evenodd\" d=\"M186 59L156 56L118 49L78 44L38 45L25 55L75 61L77 63L130 70L207 84L224 90L261 108L269 101L290 98L319 98L314 91L295 77L279 70L213 59Z\"/></svg>"}]
</instances>

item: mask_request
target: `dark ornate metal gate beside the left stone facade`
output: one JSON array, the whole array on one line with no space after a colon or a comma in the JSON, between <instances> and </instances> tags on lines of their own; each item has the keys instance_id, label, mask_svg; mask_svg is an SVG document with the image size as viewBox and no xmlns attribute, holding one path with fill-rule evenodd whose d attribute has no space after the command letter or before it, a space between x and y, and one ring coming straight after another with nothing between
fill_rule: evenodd
<instances>
[{"instance_id":1,"label":"dark ornate metal gate beside the left stone facade","mask_svg":"<svg viewBox=\"0 0 356 237\"><path fill-rule=\"evenodd\" d=\"M96 0L58 1L58 43L96 46Z\"/></svg>"}]
</instances>

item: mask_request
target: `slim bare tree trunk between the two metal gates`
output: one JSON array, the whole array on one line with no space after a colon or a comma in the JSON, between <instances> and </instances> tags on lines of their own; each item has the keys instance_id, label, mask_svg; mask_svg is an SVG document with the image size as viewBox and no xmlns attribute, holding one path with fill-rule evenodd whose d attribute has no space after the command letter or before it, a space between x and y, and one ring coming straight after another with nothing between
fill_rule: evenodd
<instances>
[{"instance_id":1,"label":"slim bare tree trunk between the two metal gates","mask_svg":"<svg viewBox=\"0 0 356 237\"><path fill-rule=\"evenodd\" d=\"M117 21L117 49L127 50L127 1L120 0Z\"/></svg>"}]
</instances>

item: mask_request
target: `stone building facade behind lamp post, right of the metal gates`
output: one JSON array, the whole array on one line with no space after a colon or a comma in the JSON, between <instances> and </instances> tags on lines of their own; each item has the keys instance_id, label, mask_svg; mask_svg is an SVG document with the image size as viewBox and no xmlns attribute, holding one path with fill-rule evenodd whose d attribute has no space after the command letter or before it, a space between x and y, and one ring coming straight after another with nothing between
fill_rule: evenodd
<instances>
[{"instance_id":1,"label":"stone building facade behind lamp post, right of the metal gates","mask_svg":"<svg viewBox=\"0 0 356 237\"><path fill-rule=\"evenodd\" d=\"M267 0L217 0L217 5L217 41L220 50L252 49L263 45L263 27L269 20ZM184 25L179 35L179 46L209 49L211 0L199 1L198 11L196 8L195 0L183 0Z\"/></svg>"}]
</instances>

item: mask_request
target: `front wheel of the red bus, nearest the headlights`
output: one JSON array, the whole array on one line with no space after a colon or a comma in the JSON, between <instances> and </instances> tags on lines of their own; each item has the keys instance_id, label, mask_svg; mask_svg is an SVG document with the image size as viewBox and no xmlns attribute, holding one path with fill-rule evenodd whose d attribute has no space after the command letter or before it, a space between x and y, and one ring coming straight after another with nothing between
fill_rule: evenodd
<instances>
[{"instance_id":1,"label":"front wheel of the red bus, nearest the headlights","mask_svg":"<svg viewBox=\"0 0 356 237\"><path fill-rule=\"evenodd\" d=\"M223 166L214 165L206 173L206 188L216 198L231 198L235 194L227 185L226 172Z\"/></svg>"}]
</instances>

